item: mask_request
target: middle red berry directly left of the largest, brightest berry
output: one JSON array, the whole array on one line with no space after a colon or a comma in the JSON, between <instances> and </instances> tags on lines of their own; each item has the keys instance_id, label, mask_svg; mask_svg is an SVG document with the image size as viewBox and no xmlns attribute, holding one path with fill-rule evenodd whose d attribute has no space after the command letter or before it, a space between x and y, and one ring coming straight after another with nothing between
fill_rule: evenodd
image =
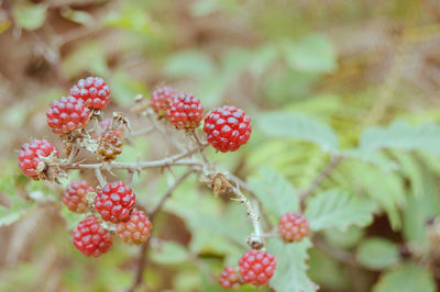
<instances>
[{"instance_id":1,"label":"middle red berry directly left of the largest, brightest berry","mask_svg":"<svg viewBox=\"0 0 440 292\"><path fill-rule=\"evenodd\" d=\"M204 106L195 96L180 93L169 102L166 116L177 128L196 128L204 119Z\"/></svg>"}]
</instances>

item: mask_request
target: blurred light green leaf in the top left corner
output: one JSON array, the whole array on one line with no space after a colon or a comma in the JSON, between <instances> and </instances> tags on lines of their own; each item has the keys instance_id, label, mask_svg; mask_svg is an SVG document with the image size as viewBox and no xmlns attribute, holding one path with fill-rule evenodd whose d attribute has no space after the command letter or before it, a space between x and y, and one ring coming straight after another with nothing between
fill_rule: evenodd
<instances>
[{"instance_id":1,"label":"blurred light green leaf in the top left corner","mask_svg":"<svg viewBox=\"0 0 440 292\"><path fill-rule=\"evenodd\" d=\"M46 4L31 4L29 2L18 2L12 10L16 24L29 31L40 29L43 25L46 12Z\"/></svg>"}]
</instances>

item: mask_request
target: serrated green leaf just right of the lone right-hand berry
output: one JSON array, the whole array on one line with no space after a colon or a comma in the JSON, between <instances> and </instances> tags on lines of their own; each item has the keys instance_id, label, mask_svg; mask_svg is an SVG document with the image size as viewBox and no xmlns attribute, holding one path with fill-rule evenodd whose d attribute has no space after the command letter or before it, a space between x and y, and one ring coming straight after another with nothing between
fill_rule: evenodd
<instances>
[{"instance_id":1,"label":"serrated green leaf just right of the lone right-hand berry","mask_svg":"<svg viewBox=\"0 0 440 292\"><path fill-rule=\"evenodd\" d=\"M363 227L371 224L375 210L373 201L333 189L311 198L305 214L312 231L330 227L344 231L350 225Z\"/></svg>"}]
</instances>

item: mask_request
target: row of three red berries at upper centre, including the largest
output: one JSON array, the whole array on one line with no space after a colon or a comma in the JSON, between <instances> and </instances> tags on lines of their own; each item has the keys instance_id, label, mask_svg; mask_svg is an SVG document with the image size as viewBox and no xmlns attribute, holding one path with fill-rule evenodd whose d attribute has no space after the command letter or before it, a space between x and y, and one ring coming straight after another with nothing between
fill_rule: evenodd
<instances>
[{"instance_id":1,"label":"row of three red berries at upper centre, including the largest","mask_svg":"<svg viewBox=\"0 0 440 292\"><path fill-rule=\"evenodd\" d=\"M167 120L177 128L187 131L199 126L204 120L204 106L198 98L188 93L179 93L169 87L161 87L153 91L151 108L160 117ZM251 117L243 110L232 105L213 109L205 117L204 131L207 141L216 149L235 151L248 143L251 133Z\"/></svg>"}]
</instances>

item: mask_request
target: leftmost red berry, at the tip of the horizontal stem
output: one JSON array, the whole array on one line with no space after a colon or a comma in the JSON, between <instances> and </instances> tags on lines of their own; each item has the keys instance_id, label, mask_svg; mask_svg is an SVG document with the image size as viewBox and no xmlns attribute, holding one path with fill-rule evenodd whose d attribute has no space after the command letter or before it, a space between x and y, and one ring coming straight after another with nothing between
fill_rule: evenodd
<instances>
[{"instance_id":1,"label":"leftmost red berry, at the tip of the horizontal stem","mask_svg":"<svg viewBox=\"0 0 440 292\"><path fill-rule=\"evenodd\" d=\"M38 164L43 160L38 157L47 157L55 151L58 157L59 151L45 139L33 139L30 143L23 144L19 154L19 166L24 171L24 175L35 180L43 179L45 176L41 172L44 169L38 169Z\"/></svg>"}]
</instances>

